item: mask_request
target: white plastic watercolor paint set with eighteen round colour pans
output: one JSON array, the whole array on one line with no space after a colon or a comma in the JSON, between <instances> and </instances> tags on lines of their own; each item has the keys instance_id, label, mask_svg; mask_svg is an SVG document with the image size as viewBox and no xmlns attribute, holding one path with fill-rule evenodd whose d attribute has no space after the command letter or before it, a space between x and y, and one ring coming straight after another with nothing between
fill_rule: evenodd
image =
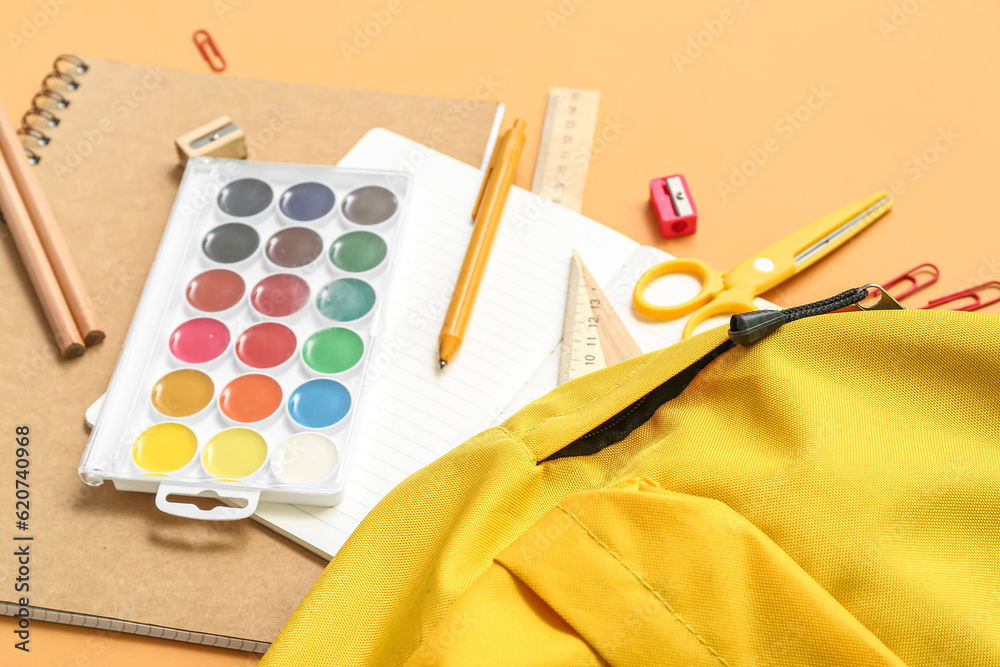
<instances>
[{"instance_id":1,"label":"white plastic watercolor paint set with eighteen round colour pans","mask_svg":"<svg viewBox=\"0 0 1000 667\"><path fill-rule=\"evenodd\" d=\"M83 480L203 519L339 502L408 188L400 172L190 160ZM176 498L206 495L226 502Z\"/></svg>"}]
</instances>

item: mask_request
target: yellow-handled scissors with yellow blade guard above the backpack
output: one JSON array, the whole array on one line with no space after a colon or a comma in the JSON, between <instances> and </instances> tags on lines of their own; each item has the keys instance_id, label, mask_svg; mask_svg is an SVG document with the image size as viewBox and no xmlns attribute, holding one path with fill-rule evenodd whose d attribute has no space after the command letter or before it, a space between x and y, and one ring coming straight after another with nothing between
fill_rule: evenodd
<instances>
[{"instance_id":1,"label":"yellow-handled scissors with yellow blade guard above the backpack","mask_svg":"<svg viewBox=\"0 0 1000 667\"><path fill-rule=\"evenodd\" d=\"M777 243L737 264L730 271L716 271L697 259L671 259L642 274L632 299L636 310L657 320L673 320L690 314L684 338L715 315L757 310L753 298L812 266L842 246L862 229L892 208L885 191L854 202L816 222L793 232ZM670 306L650 303L643 296L646 287L661 276L689 273L701 280L701 291L689 301Z\"/></svg>"}]
</instances>

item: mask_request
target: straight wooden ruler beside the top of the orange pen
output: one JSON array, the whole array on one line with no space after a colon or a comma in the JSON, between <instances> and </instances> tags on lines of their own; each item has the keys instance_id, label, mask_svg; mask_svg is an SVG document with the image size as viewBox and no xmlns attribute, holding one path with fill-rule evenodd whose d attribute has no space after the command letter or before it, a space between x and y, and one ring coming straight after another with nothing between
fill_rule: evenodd
<instances>
[{"instance_id":1,"label":"straight wooden ruler beside the top of the orange pen","mask_svg":"<svg viewBox=\"0 0 1000 667\"><path fill-rule=\"evenodd\" d=\"M579 213L601 93L552 88L531 191Z\"/></svg>"}]
</instances>

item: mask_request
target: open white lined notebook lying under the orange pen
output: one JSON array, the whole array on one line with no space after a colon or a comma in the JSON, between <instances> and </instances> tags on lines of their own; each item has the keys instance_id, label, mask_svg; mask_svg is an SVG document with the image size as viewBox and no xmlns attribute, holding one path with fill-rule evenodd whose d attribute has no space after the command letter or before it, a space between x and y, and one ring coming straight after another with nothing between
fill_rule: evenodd
<instances>
[{"instance_id":1,"label":"open white lined notebook lying under the orange pen","mask_svg":"<svg viewBox=\"0 0 1000 667\"><path fill-rule=\"evenodd\" d=\"M255 514L327 558L394 486L498 423L504 406L559 345L574 249L606 283L639 247L513 188L462 347L440 371L437 337L472 235L482 174L387 130L369 132L340 165L403 170L414 182L345 499L332 508L264 503Z\"/></svg>"}]
</instances>

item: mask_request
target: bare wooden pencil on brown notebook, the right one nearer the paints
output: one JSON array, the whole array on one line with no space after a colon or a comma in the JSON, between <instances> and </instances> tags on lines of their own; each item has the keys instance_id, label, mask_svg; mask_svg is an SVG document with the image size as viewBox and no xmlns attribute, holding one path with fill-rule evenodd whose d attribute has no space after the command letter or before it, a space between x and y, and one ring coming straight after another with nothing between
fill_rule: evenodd
<instances>
[{"instance_id":1,"label":"bare wooden pencil on brown notebook, the right one nearer the paints","mask_svg":"<svg viewBox=\"0 0 1000 667\"><path fill-rule=\"evenodd\" d=\"M17 138L14 126L7 117L7 111L0 103L0 152L6 158L14 183L30 215L37 237L48 256L48 263L55 273L59 288L76 322L76 329L83 335L85 345L95 345L104 340L104 330L97 318L97 312L90 301L83 279L77 271L66 241L63 239L55 216L49 207L38 179L28 164L24 148Z\"/></svg>"}]
</instances>

